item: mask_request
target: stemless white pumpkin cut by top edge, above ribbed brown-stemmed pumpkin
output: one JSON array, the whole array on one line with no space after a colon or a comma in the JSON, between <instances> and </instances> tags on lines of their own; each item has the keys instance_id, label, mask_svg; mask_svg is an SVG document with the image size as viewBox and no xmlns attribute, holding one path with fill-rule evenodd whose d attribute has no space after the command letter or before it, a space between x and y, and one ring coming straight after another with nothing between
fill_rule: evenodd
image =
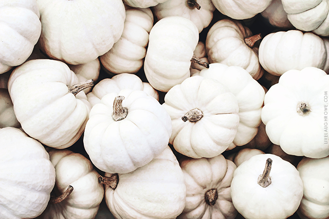
<instances>
[{"instance_id":1,"label":"stemless white pumpkin cut by top edge, above ribbed brown-stemmed pumpkin","mask_svg":"<svg viewBox=\"0 0 329 219\"><path fill-rule=\"evenodd\" d=\"M216 9L233 19L247 19L264 11L272 0L213 0Z\"/></svg>"}]
</instances>

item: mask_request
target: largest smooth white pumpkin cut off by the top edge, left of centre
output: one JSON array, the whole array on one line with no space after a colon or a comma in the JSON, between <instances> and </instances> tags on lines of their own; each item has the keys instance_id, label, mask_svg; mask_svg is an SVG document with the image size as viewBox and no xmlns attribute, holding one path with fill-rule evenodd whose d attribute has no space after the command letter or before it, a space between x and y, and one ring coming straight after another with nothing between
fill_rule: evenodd
<instances>
[{"instance_id":1,"label":"largest smooth white pumpkin cut off by the top edge, left of centre","mask_svg":"<svg viewBox=\"0 0 329 219\"><path fill-rule=\"evenodd\" d=\"M51 58L71 65L93 61L110 50L122 34L122 0L37 2L42 24L39 43Z\"/></svg>"}]
</instances>

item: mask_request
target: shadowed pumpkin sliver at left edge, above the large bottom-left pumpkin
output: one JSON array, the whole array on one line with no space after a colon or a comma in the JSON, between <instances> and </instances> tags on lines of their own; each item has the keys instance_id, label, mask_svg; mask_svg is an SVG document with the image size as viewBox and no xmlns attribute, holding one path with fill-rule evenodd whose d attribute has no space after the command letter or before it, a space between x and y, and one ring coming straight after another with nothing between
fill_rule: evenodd
<instances>
[{"instance_id":1,"label":"shadowed pumpkin sliver at left edge, above the large bottom-left pumpkin","mask_svg":"<svg viewBox=\"0 0 329 219\"><path fill-rule=\"evenodd\" d=\"M0 88L0 128L5 127L20 128L21 124L17 121L8 90Z\"/></svg>"}]
</instances>

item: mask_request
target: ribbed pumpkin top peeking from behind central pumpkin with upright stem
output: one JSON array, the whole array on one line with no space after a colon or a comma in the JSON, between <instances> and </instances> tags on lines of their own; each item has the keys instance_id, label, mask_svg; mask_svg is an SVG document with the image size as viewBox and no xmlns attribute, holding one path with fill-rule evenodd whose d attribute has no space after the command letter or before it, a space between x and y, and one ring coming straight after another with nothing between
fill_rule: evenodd
<instances>
[{"instance_id":1,"label":"ribbed pumpkin top peeking from behind central pumpkin with upright stem","mask_svg":"<svg viewBox=\"0 0 329 219\"><path fill-rule=\"evenodd\" d=\"M153 96L159 101L159 93L147 82L142 80L135 74L122 73L112 78L104 78L95 85L93 91L87 94L89 103L94 106L101 102L103 96L108 93L118 93L123 89L142 90Z\"/></svg>"}]
</instances>

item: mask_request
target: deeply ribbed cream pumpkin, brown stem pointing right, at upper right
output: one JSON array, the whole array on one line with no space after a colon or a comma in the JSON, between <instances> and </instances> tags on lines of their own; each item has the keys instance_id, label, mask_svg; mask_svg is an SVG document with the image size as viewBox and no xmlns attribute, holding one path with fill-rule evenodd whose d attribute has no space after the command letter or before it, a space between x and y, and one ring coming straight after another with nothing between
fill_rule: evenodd
<instances>
[{"instance_id":1,"label":"deeply ribbed cream pumpkin, brown stem pointing right, at upper right","mask_svg":"<svg viewBox=\"0 0 329 219\"><path fill-rule=\"evenodd\" d=\"M221 19L207 33L206 51L210 63L222 63L246 69L254 79L259 79L264 69L258 60L258 47L246 44L254 38L250 29L240 21Z\"/></svg>"}]
</instances>

